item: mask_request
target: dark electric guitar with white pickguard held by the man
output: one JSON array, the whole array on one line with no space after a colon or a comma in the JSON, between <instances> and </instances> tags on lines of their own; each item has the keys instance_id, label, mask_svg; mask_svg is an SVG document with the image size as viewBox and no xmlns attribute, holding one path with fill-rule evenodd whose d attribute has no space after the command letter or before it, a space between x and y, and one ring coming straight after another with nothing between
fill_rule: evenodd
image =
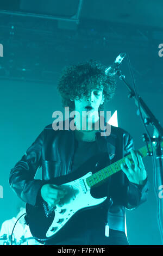
<instances>
[{"instance_id":1,"label":"dark electric guitar with white pickguard held by the man","mask_svg":"<svg viewBox=\"0 0 163 256\"><path fill-rule=\"evenodd\" d=\"M162 146L163 142L161 143ZM151 151L151 145L148 147ZM142 157L147 156L147 147L141 148L139 152ZM101 198L96 198L96 193L93 197L92 192L96 192L99 187L102 188L104 182L106 184L111 175L119 172L121 163L126 163L126 158L132 162L131 154L129 154L101 169L101 166L105 166L106 156L104 153L98 154L97 157L91 158L75 172L48 181L48 184L66 188L67 194L55 208L49 207L43 200L39 206L26 204L27 223L34 238L40 243L45 243L47 240L57 242L61 238L63 239L66 232L71 230L73 218L81 210L90 210L105 203L106 194Z\"/></svg>"}]
</instances>

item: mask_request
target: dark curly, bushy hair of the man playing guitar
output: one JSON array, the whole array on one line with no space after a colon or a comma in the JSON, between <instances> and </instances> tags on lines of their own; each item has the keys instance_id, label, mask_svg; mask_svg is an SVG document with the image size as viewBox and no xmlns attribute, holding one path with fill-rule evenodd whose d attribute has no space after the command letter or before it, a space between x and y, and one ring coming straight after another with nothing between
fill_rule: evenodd
<instances>
[{"instance_id":1,"label":"dark curly, bushy hair of the man playing guitar","mask_svg":"<svg viewBox=\"0 0 163 256\"><path fill-rule=\"evenodd\" d=\"M105 75L106 66L96 60L88 60L78 65L67 66L58 82L58 91L62 98L62 106L75 108L74 99L81 99L95 88L103 88L105 101L109 101L115 94L116 82L114 77ZM71 99L71 100L70 100ZM98 111L104 109L104 103Z\"/></svg>"}]
</instances>

